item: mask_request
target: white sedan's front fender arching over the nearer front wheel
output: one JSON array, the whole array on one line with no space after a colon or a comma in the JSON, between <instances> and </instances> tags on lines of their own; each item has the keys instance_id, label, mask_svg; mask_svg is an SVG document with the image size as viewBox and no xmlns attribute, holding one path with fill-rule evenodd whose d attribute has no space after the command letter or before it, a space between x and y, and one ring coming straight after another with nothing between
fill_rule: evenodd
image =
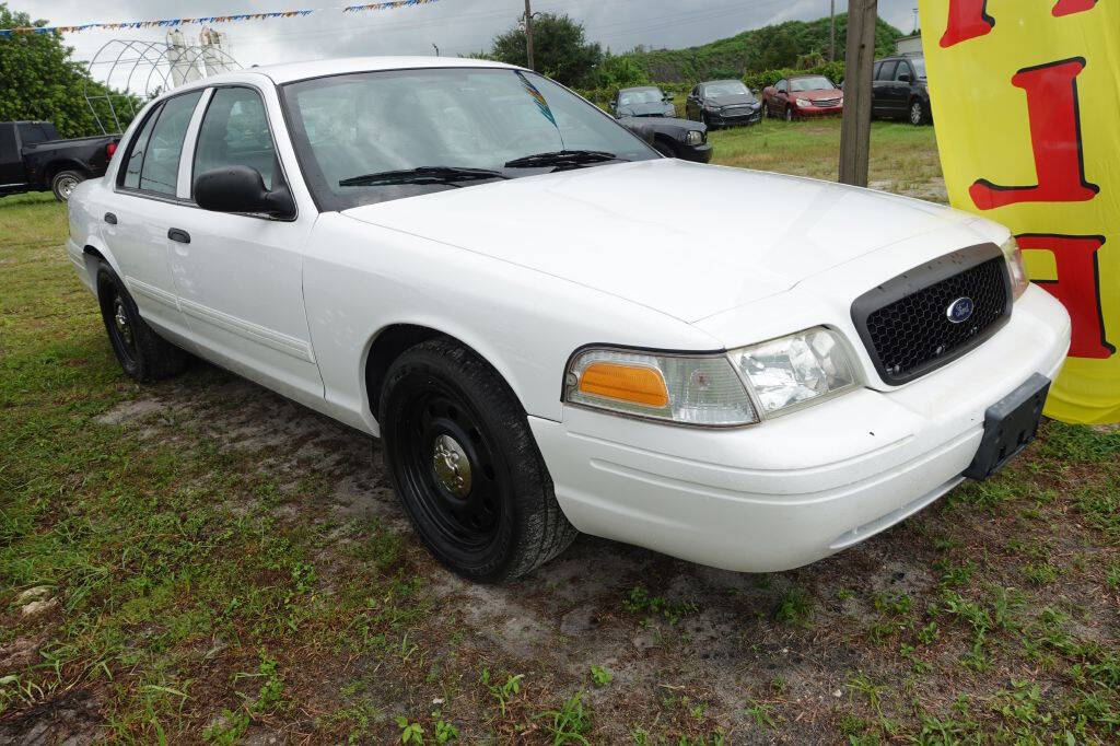
<instances>
[{"instance_id":1,"label":"white sedan's front fender arching over the nearer front wheel","mask_svg":"<svg viewBox=\"0 0 1120 746\"><path fill-rule=\"evenodd\" d=\"M324 213L308 242L304 298L328 404L374 433L366 364L379 334L393 325L460 341L494 366L525 412L551 420L562 418L564 367L578 347L718 344L616 296L338 213Z\"/></svg>"}]
</instances>

